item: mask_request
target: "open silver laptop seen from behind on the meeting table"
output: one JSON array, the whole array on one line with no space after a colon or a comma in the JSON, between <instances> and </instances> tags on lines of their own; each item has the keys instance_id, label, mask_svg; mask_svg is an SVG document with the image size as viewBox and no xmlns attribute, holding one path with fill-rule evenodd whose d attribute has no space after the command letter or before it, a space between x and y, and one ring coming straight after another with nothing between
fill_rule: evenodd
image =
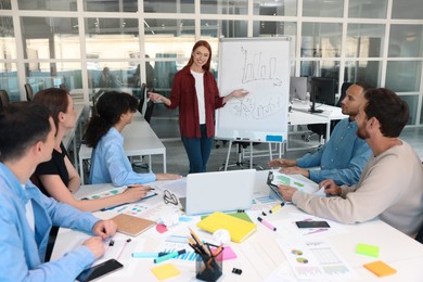
<instances>
[{"instance_id":1,"label":"open silver laptop seen from behind on the meeting table","mask_svg":"<svg viewBox=\"0 0 423 282\"><path fill-rule=\"evenodd\" d=\"M256 170L230 170L187 176L187 197L179 198L185 214L236 211L252 207Z\"/></svg>"}]
</instances>

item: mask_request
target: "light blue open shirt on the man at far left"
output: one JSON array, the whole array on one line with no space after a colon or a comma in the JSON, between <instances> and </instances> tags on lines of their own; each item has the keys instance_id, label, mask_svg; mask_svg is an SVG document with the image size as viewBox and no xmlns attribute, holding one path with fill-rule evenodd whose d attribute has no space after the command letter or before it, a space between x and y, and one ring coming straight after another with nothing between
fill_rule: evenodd
<instances>
[{"instance_id":1,"label":"light blue open shirt on the man at far left","mask_svg":"<svg viewBox=\"0 0 423 282\"><path fill-rule=\"evenodd\" d=\"M31 201L35 231L25 205ZM44 196L29 180L25 190L15 175L0 163L0 281L74 281L94 261L87 246L43 262L52 225L90 232L99 219Z\"/></svg>"}]
</instances>

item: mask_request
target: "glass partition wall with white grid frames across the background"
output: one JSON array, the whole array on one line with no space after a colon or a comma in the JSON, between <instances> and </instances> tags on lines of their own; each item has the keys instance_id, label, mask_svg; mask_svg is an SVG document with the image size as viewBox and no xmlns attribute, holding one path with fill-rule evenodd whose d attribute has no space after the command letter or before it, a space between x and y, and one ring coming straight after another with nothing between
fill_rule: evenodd
<instances>
[{"instance_id":1,"label":"glass partition wall with white grid frames across the background","mask_svg":"<svg viewBox=\"0 0 423 282\"><path fill-rule=\"evenodd\" d=\"M218 77L219 38L289 36L292 76L390 88L409 125L423 124L420 0L2 0L0 12L0 88L12 101L25 84L82 102L99 88L139 95L142 82L169 95L196 40L210 42Z\"/></svg>"}]
</instances>

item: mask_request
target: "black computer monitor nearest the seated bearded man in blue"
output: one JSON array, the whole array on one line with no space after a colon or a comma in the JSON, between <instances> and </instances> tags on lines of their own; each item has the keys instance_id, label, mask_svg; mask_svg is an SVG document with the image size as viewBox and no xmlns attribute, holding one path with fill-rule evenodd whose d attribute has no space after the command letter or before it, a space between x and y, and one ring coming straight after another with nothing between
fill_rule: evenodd
<instances>
[{"instance_id":1,"label":"black computer monitor nearest the seated bearded man in blue","mask_svg":"<svg viewBox=\"0 0 423 282\"><path fill-rule=\"evenodd\" d=\"M310 89L311 113L321 113L316 108L316 103L326 105L335 104L335 79L328 77L312 77Z\"/></svg>"}]
</instances>

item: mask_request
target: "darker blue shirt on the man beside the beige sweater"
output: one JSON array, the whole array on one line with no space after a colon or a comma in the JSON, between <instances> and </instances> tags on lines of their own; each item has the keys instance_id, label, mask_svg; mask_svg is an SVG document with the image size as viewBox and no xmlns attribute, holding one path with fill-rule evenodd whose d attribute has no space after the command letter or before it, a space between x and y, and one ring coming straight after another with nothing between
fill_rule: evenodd
<instances>
[{"instance_id":1,"label":"darker blue shirt on the man beside the beige sweater","mask_svg":"<svg viewBox=\"0 0 423 282\"><path fill-rule=\"evenodd\" d=\"M360 180L372 151L368 143L357 136L357 123L348 118L339 120L331 139L313 154L307 154L297 159L299 167L310 170L310 179L320 182L333 179L336 184L352 185Z\"/></svg>"}]
</instances>

